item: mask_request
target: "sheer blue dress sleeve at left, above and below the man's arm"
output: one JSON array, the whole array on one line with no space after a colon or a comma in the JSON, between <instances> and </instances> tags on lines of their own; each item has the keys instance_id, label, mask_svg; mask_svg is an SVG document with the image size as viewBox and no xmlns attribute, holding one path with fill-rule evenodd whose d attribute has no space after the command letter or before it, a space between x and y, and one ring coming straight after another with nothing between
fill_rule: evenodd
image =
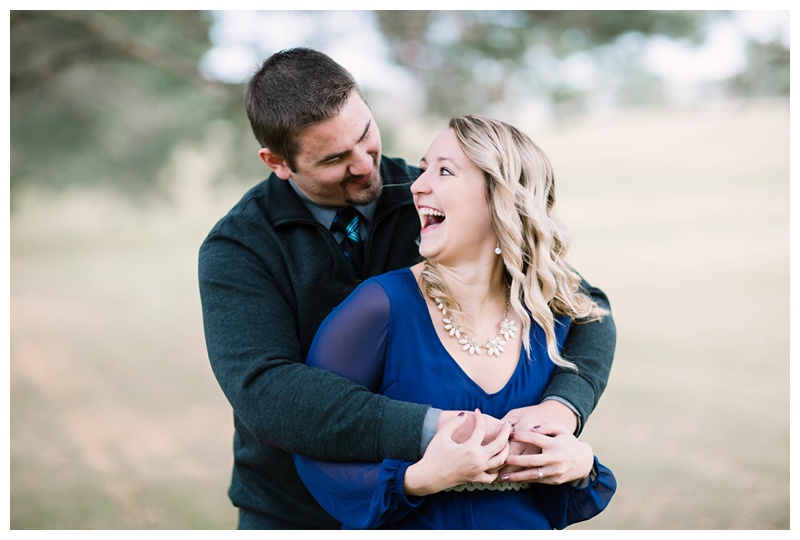
<instances>
[{"instance_id":1,"label":"sheer blue dress sleeve at left, above and below the man's arm","mask_svg":"<svg viewBox=\"0 0 800 540\"><path fill-rule=\"evenodd\" d=\"M328 369L377 392L383 376L391 306L377 282L366 281L320 326L307 363ZM317 461L294 456L303 483L345 528L369 529L401 519L422 497L406 497L410 462Z\"/></svg>"}]
</instances>

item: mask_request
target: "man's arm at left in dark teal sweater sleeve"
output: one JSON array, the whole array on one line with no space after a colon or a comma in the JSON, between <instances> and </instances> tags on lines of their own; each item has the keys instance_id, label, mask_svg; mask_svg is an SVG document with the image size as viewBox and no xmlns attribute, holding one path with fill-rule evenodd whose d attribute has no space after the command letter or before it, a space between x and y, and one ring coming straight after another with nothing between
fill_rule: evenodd
<instances>
[{"instance_id":1,"label":"man's arm at left in dark teal sweater sleeve","mask_svg":"<svg viewBox=\"0 0 800 540\"><path fill-rule=\"evenodd\" d=\"M286 296L292 291L253 251L210 237L200 250L199 277L212 369L236 416L257 437L320 459L418 459L429 407L389 400L306 366Z\"/></svg>"}]
</instances>

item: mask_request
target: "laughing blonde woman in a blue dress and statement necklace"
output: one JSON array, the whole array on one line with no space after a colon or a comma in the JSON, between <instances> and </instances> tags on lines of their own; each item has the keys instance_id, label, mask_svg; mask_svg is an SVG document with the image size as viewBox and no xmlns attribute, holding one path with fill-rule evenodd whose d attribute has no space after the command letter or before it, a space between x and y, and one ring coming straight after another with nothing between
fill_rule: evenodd
<instances>
[{"instance_id":1,"label":"laughing blonde woman in a blue dress and statement necklace","mask_svg":"<svg viewBox=\"0 0 800 540\"><path fill-rule=\"evenodd\" d=\"M571 365L559 350L572 321L603 315L564 260L550 164L515 128L466 116L420 168L423 261L365 281L323 323L308 363L389 397L475 412L449 420L417 463L296 456L301 478L346 528L589 519L616 481L586 443L559 426L491 429L483 416L539 403L554 366ZM518 481L531 470L533 482Z\"/></svg>"}]
</instances>

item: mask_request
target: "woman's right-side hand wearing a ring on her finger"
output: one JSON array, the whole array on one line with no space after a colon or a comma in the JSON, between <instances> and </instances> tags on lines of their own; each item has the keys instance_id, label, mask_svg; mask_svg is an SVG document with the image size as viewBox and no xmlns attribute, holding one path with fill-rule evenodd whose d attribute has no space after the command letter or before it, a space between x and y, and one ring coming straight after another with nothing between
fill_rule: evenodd
<instances>
[{"instance_id":1,"label":"woman's right-side hand wearing a ring on her finger","mask_svg":"<svg viewBox=\"0 0 800 540\"><path fill-rule=\"evenodd\" d=\"M586 478L594 465L592 447L558 424L542 424L530 430L515 431L511 434L511 441L515 445L530 445L533 449L508 456L506 465L513 468L500 471L505 482L565 484ZM536 453L535 449L541 449L541 452Z\"/></svg>"}]
</instances>

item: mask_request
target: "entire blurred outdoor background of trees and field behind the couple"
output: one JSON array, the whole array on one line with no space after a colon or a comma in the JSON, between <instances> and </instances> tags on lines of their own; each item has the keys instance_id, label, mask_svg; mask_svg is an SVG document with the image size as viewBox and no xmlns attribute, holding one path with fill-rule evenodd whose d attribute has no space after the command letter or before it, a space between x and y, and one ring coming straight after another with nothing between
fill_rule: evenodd
<instances>
[{"instance_id":1,"label":"entire blurred outdoor background of trees and field behind the couple","mask_svg":"<svg viewBox=\"0 0 800 540\"><path fill-rule=\"evenodd\" d=\"M789 529L789 11L11 11L10 527L230 529L197 250L267 176L260 61L318 48L384 153L454 114L553 162L618 347L576 529Z\"/></svg>"}]
</instances>

